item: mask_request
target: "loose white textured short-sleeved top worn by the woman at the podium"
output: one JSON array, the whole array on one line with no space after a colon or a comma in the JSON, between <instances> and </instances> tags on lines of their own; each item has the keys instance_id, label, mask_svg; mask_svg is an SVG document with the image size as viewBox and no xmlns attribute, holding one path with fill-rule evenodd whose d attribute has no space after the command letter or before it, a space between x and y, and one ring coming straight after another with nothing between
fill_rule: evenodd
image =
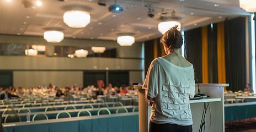
<instances>
[{"instance_id":1,"label":"loose white textured short-sleeved top worn by the woman at the podium","mask_svg":"<svg viewBox=\"0 0 256 132\"><path fill-rule=\"evenodd\" d=\"M142 87L155 98L150 120L156 124L192 125L189 96L195 95L194 69L178 67L159 57L151 62Z\"/></svg>"}]
</instances>

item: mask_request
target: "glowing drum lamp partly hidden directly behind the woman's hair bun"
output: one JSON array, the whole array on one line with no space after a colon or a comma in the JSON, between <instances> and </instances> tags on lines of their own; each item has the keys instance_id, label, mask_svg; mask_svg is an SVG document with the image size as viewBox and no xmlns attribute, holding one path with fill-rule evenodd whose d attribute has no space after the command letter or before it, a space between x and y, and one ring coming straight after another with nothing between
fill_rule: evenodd
<instances>
[{"instance_id":1,"label":"glowing drum lamp partly hidden directly behind the woman's hair bun","mask_svg":"<svg viewBox=\"0 0 256 132\"><path fill-rule=\"evenodd\" d=\"M164 34L166 33L166 31L168 31L170 28L172 28L175 25L179 25L178 30L180 30L181 24L179 21L163 21L158 24L158 31Z\"/></svg>"}]
</instances>

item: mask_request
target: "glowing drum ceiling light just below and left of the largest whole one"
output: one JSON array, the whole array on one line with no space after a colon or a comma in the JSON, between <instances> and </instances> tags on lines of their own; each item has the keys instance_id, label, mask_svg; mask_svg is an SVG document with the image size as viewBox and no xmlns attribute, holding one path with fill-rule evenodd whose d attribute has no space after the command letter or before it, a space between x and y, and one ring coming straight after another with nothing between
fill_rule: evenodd
<instances>
[{"instance_id":1,"label":"glowing drum ceiling light just below and left of the largest whole one","mask_svg":"<svg viewBox=\"0 0 256 132\"><path fill-rule=\"evenodd\" d=\"M45 31L44 38L47 42L60 42L64 38L64 34L61 31Z\"/></svg>"}]
</instances>

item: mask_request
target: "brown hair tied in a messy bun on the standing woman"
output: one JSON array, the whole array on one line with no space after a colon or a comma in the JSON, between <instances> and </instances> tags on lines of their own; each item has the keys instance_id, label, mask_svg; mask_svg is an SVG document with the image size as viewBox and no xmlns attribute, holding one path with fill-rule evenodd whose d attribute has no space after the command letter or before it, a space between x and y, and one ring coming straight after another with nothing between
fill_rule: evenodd
<instances>
[{"instance_id":1,"label":"brown hair tied in a messy bun on the standing woman","mask_svg":"<svg viewBox=\"0 0 256 132\"><path fill-rule=\"evenodd\" d=\"M170 28L166 33L164 33L163 37L161 37L160 42L166 44L168 49L173 50L174 48L180 48L183 44L183 38L180 31L177 30L178 25Z\"/></svg>"}]
</instances>

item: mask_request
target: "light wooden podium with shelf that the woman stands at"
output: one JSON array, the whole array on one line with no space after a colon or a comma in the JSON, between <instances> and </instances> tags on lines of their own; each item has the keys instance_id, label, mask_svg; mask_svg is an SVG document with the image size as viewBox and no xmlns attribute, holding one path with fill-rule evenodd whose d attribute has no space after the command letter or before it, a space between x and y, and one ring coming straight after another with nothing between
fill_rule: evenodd
<instances>
[{"instance_id":1,"label":"light wooden podium with shelf that the woman stands at","mask_svg":"<svg viewBox=\"0 0 256 132\"><path fill-rule=\"evenodd\" d=\"M210 107L206 111L205 131L225 131L223 100L224 87L227 86L229 86L229 84L199 84L200 92L205 93L211 98L190 100L193 131L199 131L204 105L208 102ZM146 97L147 89L143 89L142 85L134 85L134 88L138 89L139 130L140 132L148 132L151 106ZM198 91L197 84L195 91Z\"/></svg>"}]
</instances>

